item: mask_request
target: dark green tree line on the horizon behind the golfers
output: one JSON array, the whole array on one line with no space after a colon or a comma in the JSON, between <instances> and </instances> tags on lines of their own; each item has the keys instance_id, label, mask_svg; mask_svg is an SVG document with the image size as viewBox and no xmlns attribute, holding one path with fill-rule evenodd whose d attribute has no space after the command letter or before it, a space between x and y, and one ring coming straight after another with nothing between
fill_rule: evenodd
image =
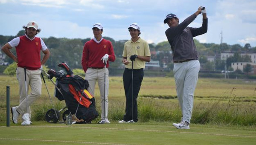
<instances>
[{"instance_id":1,"label":"dark green tree line on the horizon behind the golfers","mask_svg":"<svg viewBox=\"0 0 256 145\"><path fill-rule=\"evenodd\" d=\"M0 35L0 45L3 46L7 42L11 41L13 38L17 36L22 36L25 34L24 30L20 30L16 36L3 36ZM115 41L113 38L110 37L103 37L113 44L114 52L116 55L116 61L110 62L110 68L118 68L121 66L122 62L122 52L124 48L124 44L128 40L119 40ZM51 56L47 61L46 65L48 68L57 69L57 65L60 62L67 62L72 69L81 69L81 56L83 51L83 46L85 42L91 40L91 38L42 38L49 48L51 52ZM226 43L222 44L214 44L214 43L200 43L198 40L194 39L195 45L197 47L199 53L199 61L201 62L203 68L205 70L213 71L213 70L224 70L225 65L227 68L231 67L232 62L240 61L240 62L248 62L250 58L248 57L241 57L239 52L256 52L256 47L250 46L250 44L245 44L241 46L240 44L228 45ZM168 41L163 41L158 44L151 43L149 44L149 48L151 51L151 60L159 61L160 67L163 65L167 65L169 70L172 69L172 52L171 46L169 45ZM12 53L16 55L15 49L11 49ZM221 52L230 51L236 52L233 57L227 58L227 61L221 60L217 57L215 62L207 61L207 56L219 56ZM6 62L11 64L13 60L9 57L6 57Z\"/></svg>"}]
</instances>

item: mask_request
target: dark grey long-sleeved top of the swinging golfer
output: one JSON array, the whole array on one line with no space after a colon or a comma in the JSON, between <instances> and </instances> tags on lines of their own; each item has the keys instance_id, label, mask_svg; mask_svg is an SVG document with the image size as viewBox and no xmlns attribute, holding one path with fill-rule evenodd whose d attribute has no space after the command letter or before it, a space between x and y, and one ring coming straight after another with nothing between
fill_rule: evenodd
<instances>
[{"instance_id":1,"label":"dark grey long-sleeved top of the swinging golfer","mask_svg":"<svg viewBox=\"0 0 256 145\"><path fill-rule=\"evenodd\" d=\"M172 49L173 61L198 60L198 52L193 37L207 32L208 19L203 19L200 28L187 27L195 18L196 15L192 14L178 26L166 30L166 37Z\"/></svg>"}]
</instances>

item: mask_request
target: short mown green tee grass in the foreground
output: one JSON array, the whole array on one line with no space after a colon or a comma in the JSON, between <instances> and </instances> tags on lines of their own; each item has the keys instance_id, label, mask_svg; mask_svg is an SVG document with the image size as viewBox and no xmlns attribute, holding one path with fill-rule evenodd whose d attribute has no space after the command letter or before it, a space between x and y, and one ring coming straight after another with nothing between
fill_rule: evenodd
<instances>
[{"instance_id":1,"label":"short mown green tee grass in the foreground","mask_svg":"<svg viewBox=\"0 0 256 145\"><path fill-rule=\"evenodd\" d=\"M168 122L70 126L35 122L30 127L0 129L1 145L254 145L256 142L255 130L202 125L177 130Z\"/></svg>"}]
</instances>

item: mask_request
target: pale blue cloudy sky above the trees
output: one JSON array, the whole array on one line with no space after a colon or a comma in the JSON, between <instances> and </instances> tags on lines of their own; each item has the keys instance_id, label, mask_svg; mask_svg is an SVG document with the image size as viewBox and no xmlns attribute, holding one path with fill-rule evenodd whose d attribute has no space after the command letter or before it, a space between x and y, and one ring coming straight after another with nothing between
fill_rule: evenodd
<instances>
[{"instance_id":1,"label":"pale blue cloudy sky above the trees","mask_svg":"<svg viewBox=\"0 0 256 145\"><path fill-rule=\"evenodd\" d=\"M208 32L195 37L201 43L256 46L256 0L0 0L0 35L15 36L36 21L41 38L93 38L92 26L102 23L103 36L128 40L131 23L140 25L148 43L167 41L163 23L174 13L180 22L199 6L207 10ZM189 24L200 27L202 14Z\"/></svg>"}]
</instances>

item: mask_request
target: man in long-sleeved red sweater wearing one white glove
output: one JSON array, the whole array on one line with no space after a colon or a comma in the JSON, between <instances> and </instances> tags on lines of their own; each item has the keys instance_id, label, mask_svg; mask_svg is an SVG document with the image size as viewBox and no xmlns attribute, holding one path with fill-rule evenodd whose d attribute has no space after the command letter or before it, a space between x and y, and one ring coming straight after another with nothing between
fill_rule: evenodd
<instances>
[{"instance_id":1,"label":"man in long-sleeved red sweater wearing one white glove","mask_svg":"<svg viewBox=\"0 0 256 145\"><path fill-rule=\"evenodd\" d=\"M81 64L85 79L89 83L88 91L92 95L94 95L94 88L98 81L102 109L100 122L110 123L108 120L108 61L115 61L116 57L111 41L102 38L102 24L95 23L92 29L94 38L84 44Z\"/></svg>"}]
</instances>

